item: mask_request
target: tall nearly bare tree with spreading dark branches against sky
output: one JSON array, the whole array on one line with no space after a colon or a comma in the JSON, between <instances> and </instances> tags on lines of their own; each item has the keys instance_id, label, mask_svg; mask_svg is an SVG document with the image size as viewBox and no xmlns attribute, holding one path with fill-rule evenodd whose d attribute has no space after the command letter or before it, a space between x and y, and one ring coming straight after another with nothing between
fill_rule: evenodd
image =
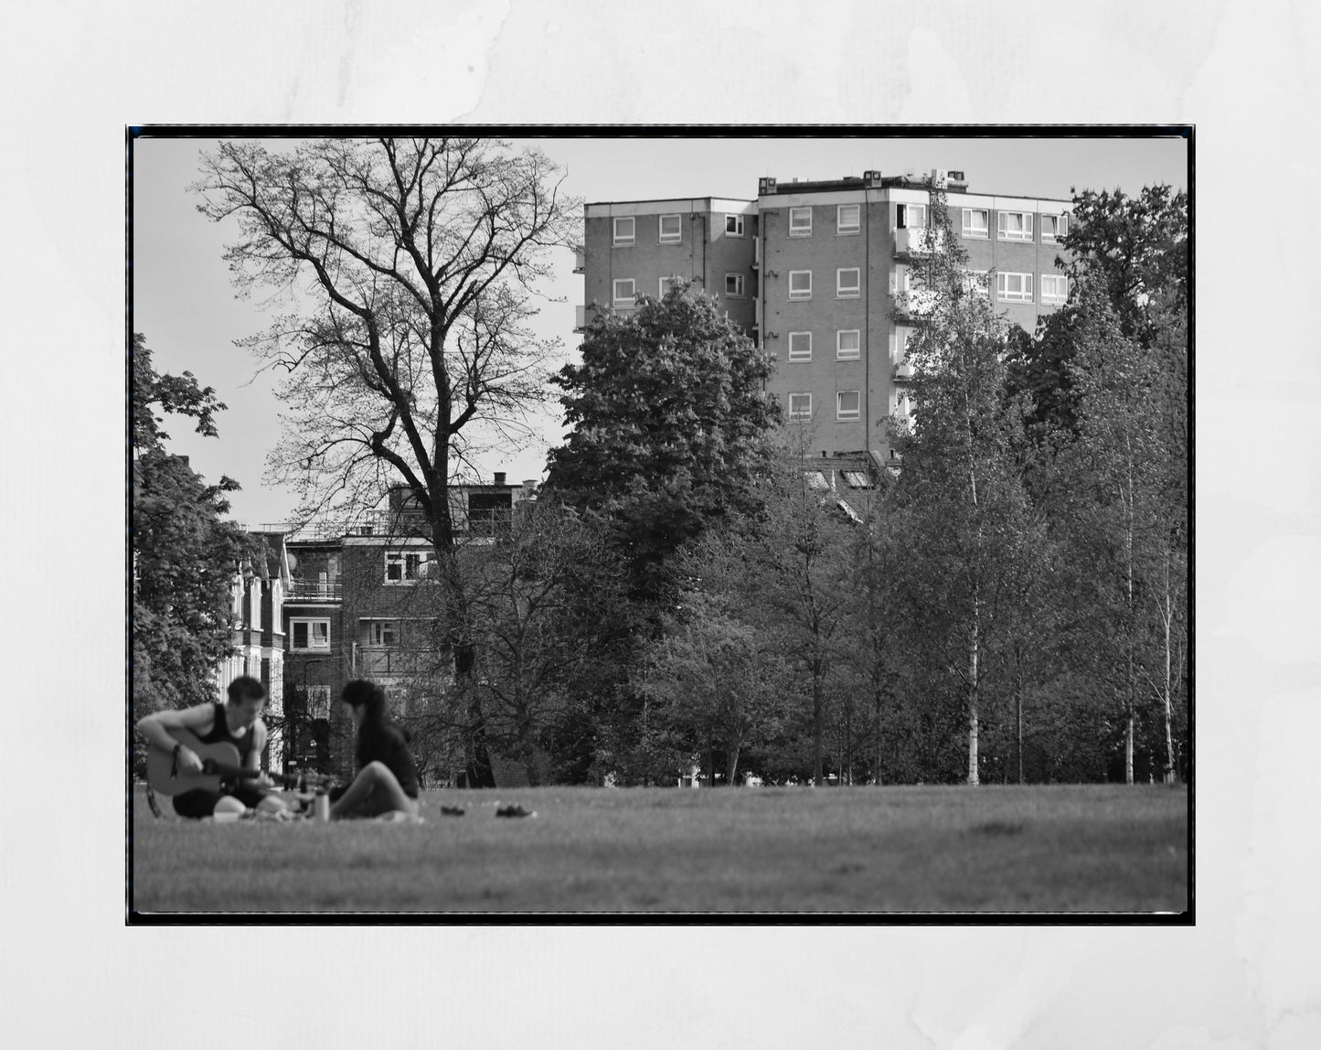
<instances>
[{"instance_id":1,"label":"tall nearly bare tree with spreading dark branches against sky","mask_svg":"<svg viewBox=\"0 0 1321 1050\"><path fill-rule=\"evenodd\" d=\"M555 343L528 321L547 251L573 241L576 201L540 152L473 138L232 141L202 164L198 210L238 223L226 258L240 294L266 286L293 308L248 340L287 373L271 473L301 493L304 517L407 487L470 693L469 782L491 784L450 485L483 443L523 436L544 397Z\"/></svg>"}]
</instances>

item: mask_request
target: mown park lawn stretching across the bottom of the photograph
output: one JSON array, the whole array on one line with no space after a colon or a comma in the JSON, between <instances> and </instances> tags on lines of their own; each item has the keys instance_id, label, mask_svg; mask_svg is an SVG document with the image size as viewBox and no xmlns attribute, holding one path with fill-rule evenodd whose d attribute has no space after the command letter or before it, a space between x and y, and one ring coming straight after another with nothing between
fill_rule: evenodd
<instances>
[{"instance_id":1,"label":"mown park lawn stretching across the bottom of the photograph","mask_svg":"<svg viewBox=\"0 0 1321 1050\"><path fill-rule=\"evenodd\" d=\"M1182 787L433 791L420 825L157 820L141 788L133 807L144 914L1189 907Z\"/></svg>"}]
</instances>

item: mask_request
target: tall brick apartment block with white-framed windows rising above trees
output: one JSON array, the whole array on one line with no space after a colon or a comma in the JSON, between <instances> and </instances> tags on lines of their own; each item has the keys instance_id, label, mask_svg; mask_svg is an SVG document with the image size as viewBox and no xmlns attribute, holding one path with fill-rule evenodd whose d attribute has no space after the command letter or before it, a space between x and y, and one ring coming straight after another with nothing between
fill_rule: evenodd
<instances>
[{"instance_id":1,"label":"tall brick apartment block with white-framed windows rising above trees","mask_svg":"<svg viewBox=\"0 0 1321 1050\"><path fill-rule=\"evenodd\" d=\"M1011 321L1032 331L1065 303L1055 258L1069 201L970 193L962 172L871 171L762 179L756 201L590 204L579 259L585 304L630 309L674 275L700 280L775 358L768 390L803 424L808 455L843 460L828 464L826 484L857 487L847 475L889 464L886 419L911 410L905 346L926 305L911 268L933 190L945 194L951 235L982 278L974 287ZM580 328L584 319L580 311Z\"/></svg>"}]
</instances>

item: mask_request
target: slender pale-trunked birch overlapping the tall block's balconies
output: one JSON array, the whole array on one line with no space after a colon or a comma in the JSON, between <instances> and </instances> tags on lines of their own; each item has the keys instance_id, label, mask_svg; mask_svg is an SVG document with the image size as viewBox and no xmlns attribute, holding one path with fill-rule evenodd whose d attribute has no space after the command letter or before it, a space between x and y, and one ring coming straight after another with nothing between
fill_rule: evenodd
<instances>
[{"instance_id":1,"label":"slender pale-trunked birch overlapping the tall block's balconies","mask_svg":"<svg viewBox=\"0 0 1321 1050\"><path fill-rule=\"evenodd\" d=\"M1005 397L1007 329L967 272L943 194L933 194L908 303L922 323L908 344L915 417L900 427L905 594L963 689L967 780L979 783L978 733L988 639L1037 542L1022 487L1021 402Z\"/></svg>"}]
</instances>

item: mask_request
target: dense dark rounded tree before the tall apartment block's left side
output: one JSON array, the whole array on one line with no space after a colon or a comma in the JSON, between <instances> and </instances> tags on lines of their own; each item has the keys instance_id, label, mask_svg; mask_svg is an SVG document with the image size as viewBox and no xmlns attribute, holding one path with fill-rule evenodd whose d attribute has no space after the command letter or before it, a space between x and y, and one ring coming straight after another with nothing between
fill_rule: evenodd
<instances>
[{"instance_id":1,"label":"dense dark rounded tree before the tall apartment block's left side","mask_svg":"<svg viewBox=\"0 0 1321 1050\"><path fill-rule=\"evenodd\" d=\"M664 559L712 522L757 505L778 405L770 358L692 283L637 309L597 309L564 390L565 443L550 484L613 522L639 596L659 595Z\"/></svg>"}]
</instances>

